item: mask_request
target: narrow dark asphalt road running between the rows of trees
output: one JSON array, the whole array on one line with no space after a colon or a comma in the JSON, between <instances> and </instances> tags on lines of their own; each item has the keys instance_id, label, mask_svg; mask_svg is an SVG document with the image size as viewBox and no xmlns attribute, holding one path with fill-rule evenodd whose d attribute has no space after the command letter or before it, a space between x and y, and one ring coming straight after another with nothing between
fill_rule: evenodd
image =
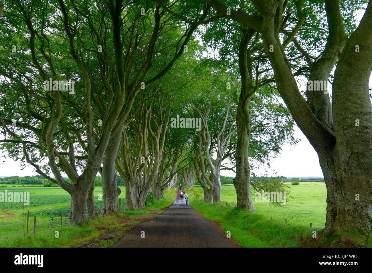
<instances>
[{"instance_id":1,"label":"narrow dark asphalt road running between the rows of trees","mask_svg":"<svg viewBox=\"0 0 372 273\"><path fill-rule=\"evenodd\" d=\"M136 225L110 247L237 247L232 240L218 233L190 204L174 201L153 220Z\"/></svg>"}]
</instances>

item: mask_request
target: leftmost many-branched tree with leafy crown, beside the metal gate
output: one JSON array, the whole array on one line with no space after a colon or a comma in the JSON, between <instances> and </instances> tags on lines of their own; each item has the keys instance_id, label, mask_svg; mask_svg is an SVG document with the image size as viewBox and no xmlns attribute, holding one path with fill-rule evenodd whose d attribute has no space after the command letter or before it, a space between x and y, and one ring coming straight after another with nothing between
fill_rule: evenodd
<instances>
[{"instance_id":1,"label":"leftmost many-branched tree with leafy crown, beside the metal gate","mask_svg":"<svg viewBox=\"0 0 372 273\"><path fill-rule=\"evenodd\" d=\"M13 36L10 36L9 33L13 33L16 29L17 38L13 43L16 44L15 47L19 46L19 51L16 50L16 54L13 54L12 58L4 59L1 64L1 74L6 81L11 82L7 85L6 95L3 97L3 110L7 108L7 94L15 92L18 95L16 104L22 103L27 114L27 116L21 114L23 117L20 119L19 126L30 133L18 135L16 131L12 130L15 128L7 126L9 120L6 121L4 118L1 119L2 126L13 140L23 146L26 161L34 166L37 172L52 182L58 183L71 195L70 224L76 224L97 215L93 195L94 178L101 166L112 131L117 130L123 122L124 117L121 115L121 109L125 100L129 99L125 97L125 90L118 84L122 80L121 73L111 74L111 71L105 66L102 66L98 71L90 71L89 69L91 59L102 61L100 59L102 52L107 53L107 60L112 61L113 70L115 70L115 64L121 62L120 58L112 56L112 52L106 52L105 44L102 43L102 36L107 33L100 26L105 22L110 22L110 18L105 12L106 9L98 4L91 12L81 15L80 8L84 9L90 4L88 2L76 4L64 1L52 1L48 4L40 1L9 3L5 7L7 10L5 20L9 24L1 28L4 36L9 38ZM58 7L57 12L54 7ZM114 8L112 7L112 9ZM112 15L115 17L114 14ZM87 19L89 16L96 17L99 23L92 20L92 17ZM47 20L50 17L55 20ZM112 19L115 21L115 18ZM118 27L118 23L113 25L114 29ZM87 29L92 32L88 33ZM25 33L27 33L26 36ZM92 33L95 36L91 36ZM92 39L87 39L87 36ZM118 38L115 35L110 38L115 40L115 37ZM106 36L106 39L110 38ZM88 40L89 43L86 42ZM100 51L101 46L102 52ZM3 55L7 56L8 54L5 54L6 48L2 49ZM120 50L116 48L115 53ZM66 59L66 61L61 62L61 59ZM114 59L115 61L113 61ZM19 65L20 60L24 60L22 65ZM93 75L94 73L95 75ZM97 74L100 76L96 77ZM99 89L94 85L93 78L100 79L102 88ZM71 93L68 91L71 90L65 90L63 84L62 86L61 83L58 85L58 82L57 84L53 82L53 87L47 86L49 79L53 81L61 79L70 81L72 79L81 82L76 86L77 90L72 90L72 92L76 91L76 101L79 101L74 106L80 109L80 113L83 115L80 121L74 120L73 116L70 121L71 124L77 122L77 126L80 125L80 122L83 124L80 130L77 129L79 134L75 135L84 149L82 155L75 155L74 139L66 125L67 117L74 108L70 108L71 99L69 96ZM22 88L19 89L19 87ZM136 87L138 90L139 88L139 86ZM95 109L92 100L94 100L94 96L102 100L107 99L106 103L103 103L102 132L97 142L94 141L93 133ZM9 114L16 115L17 113L10 111ZM17 126L16 123L15 125ZM64 155L68 155L68 159L58 152L56 146L57 136L61 133L63 133L61 139L68 143L68 153L62 151ZM48 157L48 165L55 179L43 172L28 155L26 143L31 144L29 142L37 143L36 147L40 153ZM76 167L77 156L85 158L81 175L78 174ZM67 174L72 183L63 179L61 170Z\"/></svg>"}]
</instances>

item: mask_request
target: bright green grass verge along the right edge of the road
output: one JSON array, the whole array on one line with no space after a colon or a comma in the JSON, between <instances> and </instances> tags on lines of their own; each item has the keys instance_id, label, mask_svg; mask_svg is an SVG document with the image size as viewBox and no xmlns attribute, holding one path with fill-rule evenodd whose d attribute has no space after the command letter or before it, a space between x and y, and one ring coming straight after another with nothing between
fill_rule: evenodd
<instances>
[{"instance_id":1,"label":"bright green grass verge along the right edge of the road","mask_svg":"<svg viewBox=\"0 0 372 273\"><path fill-rule=\"evenodd\" d=\"M228 202L209 204L193 199L190 205L205 218L218 221L224 231L244 247L371 247L371 238L360 233L322 235L322 229L267 219ZM314 231L317 238L313 238Z\"/></svg>"}]
</instances>

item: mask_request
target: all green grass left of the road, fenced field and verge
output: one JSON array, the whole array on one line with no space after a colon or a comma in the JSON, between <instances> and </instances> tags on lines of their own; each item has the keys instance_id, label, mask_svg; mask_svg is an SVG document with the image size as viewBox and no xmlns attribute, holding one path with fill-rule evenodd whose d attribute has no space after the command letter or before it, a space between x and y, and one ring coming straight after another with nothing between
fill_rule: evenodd
<instances>
[{"instance_id":1,"label":"all green grass left of the road, fenced field and verge","mask_svg":"<svg viewBox=\"0 0 372 273\"><path fill-rule=\"evenodd\" d=\"M9 186L9 185L8 185ZM125 204L125 187L120 186L122 204ZM15 189L0 187L0 192L25 191L30 192L30 205L16 202L0 203L0 247L61 247L74 246L79 241L90 238L97 238L102 235L102 227L112 227L118 234L122 234L131 224L120 222L121 217L126 215L148 215L148 210L160 210L173 202L174 196L164 195L164 199L154 201L142 211L125 212L124 214L108 215L102 218L93 218L73 227L58 227L49 230L49 214L52 212L69 211L70 195L59 187L22 187ZM97 207L102 205L100 199L102 187L94 189L94 196ZM30 212L29 235L24 235L26 222L23 219ZM160 212L160 211L159 211ZM36 216L36 235L33 235L33 218ZM127 227L128 226L128 227ZM55 231L59 232L59 238L55 238ZM98 240L99 241L99 240ZM109 246L113 243L110 240L101 240L101 246Z\"/></svg>"}]
</instances>

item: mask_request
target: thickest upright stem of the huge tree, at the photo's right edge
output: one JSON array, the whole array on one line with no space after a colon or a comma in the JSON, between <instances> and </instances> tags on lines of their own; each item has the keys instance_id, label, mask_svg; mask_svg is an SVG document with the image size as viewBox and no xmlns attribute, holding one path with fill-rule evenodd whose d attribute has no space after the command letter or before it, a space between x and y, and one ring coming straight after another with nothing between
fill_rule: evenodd
<instances>
[{"instance_id":1,"label":"thickest upright stem of the huge tree, at the photo's right edge","mask_svg":"<svg viewBox=\"0 0 372 273\"><path fill-rule=\"evenodd\" d=\"M372 215L372 2L341 53L334 74L332 107L336 144L333 158L338 183L334 230L371 228ZM356 45L359 51L356 50Z\"/></svg>"}]
</instances>

